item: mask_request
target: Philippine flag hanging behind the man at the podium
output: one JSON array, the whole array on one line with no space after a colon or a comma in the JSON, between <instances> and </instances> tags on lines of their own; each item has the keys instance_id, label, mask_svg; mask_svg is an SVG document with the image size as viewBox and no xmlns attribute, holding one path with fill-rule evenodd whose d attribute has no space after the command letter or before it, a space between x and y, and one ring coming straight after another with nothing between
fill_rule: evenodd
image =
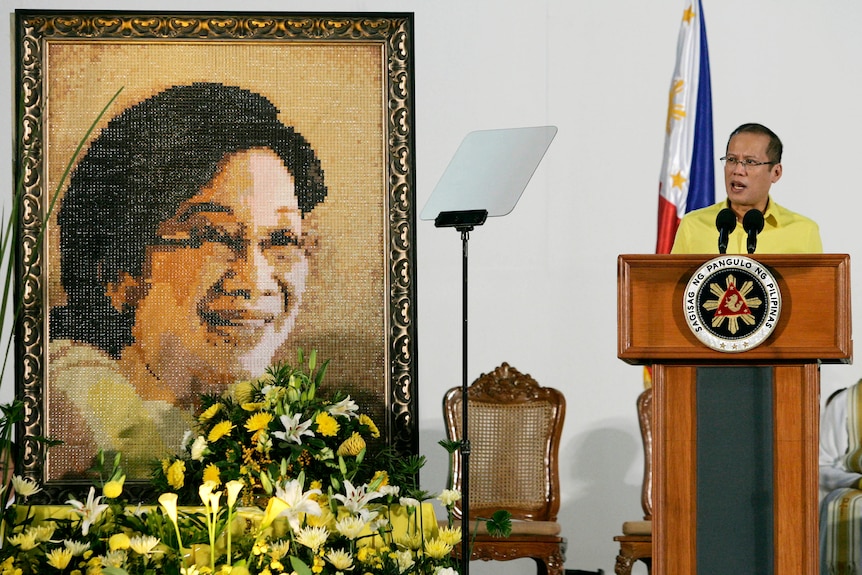
<instances>
[{"instance_id":1,"label":"Philippine flag hanging behind the man at the podium","mask_svg":"<svg viewBox=\"0 0 862 575\"><path fill-rule=\"evenodd\" d=\"M686 0L665 129L657 254L670 253L686 212L715 203L709 51L700 0Z\"/></svg>"}]
</instances>

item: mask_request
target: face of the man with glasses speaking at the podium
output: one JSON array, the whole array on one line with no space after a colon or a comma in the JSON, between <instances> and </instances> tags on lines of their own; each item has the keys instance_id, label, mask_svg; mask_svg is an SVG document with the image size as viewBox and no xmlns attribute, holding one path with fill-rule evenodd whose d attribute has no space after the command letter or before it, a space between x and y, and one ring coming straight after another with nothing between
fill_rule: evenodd
<instances>
[{"instance_id":1,"label":"face of the man with glasses speaking at the podium","mask_svg":"<svg viewBox=\"0 0 862 575\"><path fill-rule=\"evenodd\" d=\"M741 133L735 135L727 144L725 156L740 160L768 162L766 154L769 136L764 134ZM742 163L725 163L724 187L727 197L738 216L756 208L766 210L769 188L781 178L781 164L764 164L745 167Z\"/></svg>"}]
</instances>

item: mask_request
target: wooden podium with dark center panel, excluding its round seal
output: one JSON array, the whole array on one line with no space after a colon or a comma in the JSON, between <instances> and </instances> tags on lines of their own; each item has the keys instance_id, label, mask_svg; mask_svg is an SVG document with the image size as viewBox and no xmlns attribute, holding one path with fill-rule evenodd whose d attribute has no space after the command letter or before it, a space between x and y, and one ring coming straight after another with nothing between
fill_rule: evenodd
<instances>
[{"instance_id":1,"label":"wooden podium with dark center panel, excluding its round seal","mask_svg":"<svg viewBox=\"0 0 862 575\"><path fill-rule=\"evenodd\" d=\"M683 315L714 257L618 259L618 356L653 366L653 573L815 575L819 365L852 358L850 257L748 256L782 305L741 353L710 349Z\"/></svg>"}]
</instances>

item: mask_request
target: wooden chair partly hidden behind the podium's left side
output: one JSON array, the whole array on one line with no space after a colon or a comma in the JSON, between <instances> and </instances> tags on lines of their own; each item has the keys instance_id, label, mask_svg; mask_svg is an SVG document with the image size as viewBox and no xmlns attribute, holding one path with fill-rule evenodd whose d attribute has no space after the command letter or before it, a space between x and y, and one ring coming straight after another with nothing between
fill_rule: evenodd
<instances>
[{"instance_id":1,"label":"wooden chair partly hidden behind the podium's left side","mask_svg":"<svg viewBox=\"0 0 862 575\"><path fill-rule=\"evenodd\" d=\"M629 575L635 561L643 561L649 572L652 572L652 388L638 396L637 411L644 447L644 479L641 487L644 518L643 521L626 521L623 523L623 534L614 537L614 541L620 544L614 566L617 575Z\"/></svg>"}]
</instances>

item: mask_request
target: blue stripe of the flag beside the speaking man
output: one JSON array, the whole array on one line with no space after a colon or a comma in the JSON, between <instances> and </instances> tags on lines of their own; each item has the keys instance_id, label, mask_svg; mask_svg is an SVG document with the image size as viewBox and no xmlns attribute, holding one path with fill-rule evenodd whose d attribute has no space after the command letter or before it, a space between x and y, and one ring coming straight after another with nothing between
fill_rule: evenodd
<instances>
[{"instance_id":1,"label":"blue stripe of the flag beside the speaking man","mask_svg":"<svg viewBox=\"0 0 862 575\"><path fill-rule=\"evenodd\" d=\"M691 155L691 177L685 210L690 212L715 203L715 163L712 137L712 89L709 80L709 49L703 3L700 14L700 66L697 84L697 112L694 122L694 149Z\"/></svg>"}]
</instances>

